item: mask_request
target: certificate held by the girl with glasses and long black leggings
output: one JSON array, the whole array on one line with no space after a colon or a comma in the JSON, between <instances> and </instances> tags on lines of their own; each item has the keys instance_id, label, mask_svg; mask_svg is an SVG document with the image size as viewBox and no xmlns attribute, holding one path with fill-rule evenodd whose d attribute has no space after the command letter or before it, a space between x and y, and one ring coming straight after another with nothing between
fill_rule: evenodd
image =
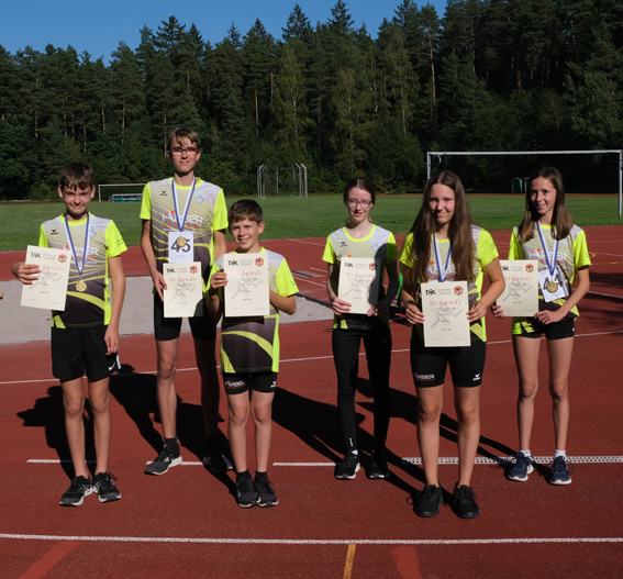
<instances>
[{"instance_id":1,"label":"certificate held by the girl with glasses and long black leggings","mask_svg":"<svg viewBox=\"0 0 623 579\"><path fill-rule=\"evenodd\" d=\"M368 313L378 301L380 260L343 257L340 264L338 298L351 303L351 313Z\"/></svg>"}]
</instances>

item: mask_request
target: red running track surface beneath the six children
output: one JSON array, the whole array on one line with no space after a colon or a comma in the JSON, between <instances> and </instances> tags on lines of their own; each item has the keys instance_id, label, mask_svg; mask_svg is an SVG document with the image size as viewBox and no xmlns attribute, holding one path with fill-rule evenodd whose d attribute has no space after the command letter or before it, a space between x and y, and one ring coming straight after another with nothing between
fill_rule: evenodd
<instances>
[{"instance_id":1,"label":"red running track surface beneath the six children","mask_svg":"<svg viewBox=\"0 0 623 579\"><path fill-rule=\"evenodd\" d=\"M621 445L623 379L623 227L588 227L591 293L580 304L571 376L572 456L614 457ZM508 232L494 235L500 253ZM282 253L302 293L324 299L324 240L266 242ZM0 254L0 272L13 255ZM124 259L129 275L144 274L137 248ZM318 274L319 277L307 277ZM4 275L0 279L8 279ZM318 292L318 293L316 293ZM1 303L0 307L7 307ZM330 322L281 326L282 364L276 397L270 477L275 509L242 510L232 477L216 478L198 463L201 426L191 339L182 335L177 375L185 461L163 477L143 468L156 455L155 348L151 335L126 336L125 374L113 378L111 470L123 499L100 504L88 498L62 509L67 459L60 389L49 374L48 344L1 346L0 436L4 441L0 517L3 577L243 577L432 578L620 577L623 542L623 465L577 464L569 487L552 487L532 475L510 482L496 465L476 466L474 487L482 515L456 517L449 508L432 520L413 513L411 494L422 488L416 457L415 397L409 370L409 331L392 325L392 420L389 481L336 481L341 455ZM7 331L7 329L4 329ZM516 449L516 375L509 322L488 322L482 388L481 456ZM545 358L545 352L542 353ZM545 359L542 360L545 369ZM360 446L370 447L371 399L361 359L357 398ZM537 397L533 454L553 453L546 375ZM456 423L446 390L441 456L455 457ZM226 416L225 400L221 415ZM226 432L225 424L222 431ZM293 463L326 466L289 466ZM364 465L366 466L366 465ZM253 465L252 465L253 467ZM440 475L452 492L456 465Z\"/></svg>"}]
</instances>

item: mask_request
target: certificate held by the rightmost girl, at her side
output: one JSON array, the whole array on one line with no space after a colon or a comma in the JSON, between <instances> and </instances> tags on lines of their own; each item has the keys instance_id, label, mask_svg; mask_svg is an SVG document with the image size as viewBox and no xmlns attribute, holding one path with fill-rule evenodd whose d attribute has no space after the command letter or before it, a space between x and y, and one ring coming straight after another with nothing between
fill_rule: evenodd
<instances>
[{"instance_id":1,"label":"certificate held by the rightmost girl, at her side","mask_svg":"<svg viewBox=\"0 0 623 579\"><path fill-rule=\"evenodd\" d=\"M507 287L498 298L504 314L531 318L538 311L538 263L530 259L500 259Z\"/></svg>"}]
</instances>

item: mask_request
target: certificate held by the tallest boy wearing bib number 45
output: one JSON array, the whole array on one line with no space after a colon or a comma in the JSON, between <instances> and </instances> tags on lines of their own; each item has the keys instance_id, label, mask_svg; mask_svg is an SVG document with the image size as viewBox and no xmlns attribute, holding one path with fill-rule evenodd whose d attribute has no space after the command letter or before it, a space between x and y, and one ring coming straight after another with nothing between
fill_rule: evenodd
<instances>
[{"instance_id":1,"label":"certificate held by the tallest boy wearing bib number 45","mask_svg":"<svg viewBox=\"0 0 623 579\"><path fill-rule=\"evenodd\" d=\"M165 318L194 318L203 312L201 263L165 264Z\"/></svg>"}]
</instances>

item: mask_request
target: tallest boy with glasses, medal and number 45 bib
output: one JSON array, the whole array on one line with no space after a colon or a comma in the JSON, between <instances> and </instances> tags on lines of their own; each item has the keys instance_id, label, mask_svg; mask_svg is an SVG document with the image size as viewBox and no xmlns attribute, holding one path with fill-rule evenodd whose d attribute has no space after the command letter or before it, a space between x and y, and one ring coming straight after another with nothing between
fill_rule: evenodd
<instances>
[{"instance_id":1,"label":"tallest boy with glasses, medal and number 45 bib","mask_svg":"<svg viewBox=\"0 0 623 579\"><path fill-rule=\"evenodd\" d=\"M179 127L171 132L167 153L174 176L151 181L143 189L141 248L154 280L154 333L158 358L156 390L163 424L164 445L147 465L147 475L164 475L181 463L177 439L177 368L181 318L165 318L163 290L167 289L163 266L174 261L201 261L204 282L216 257L225 253L227 209L223 190L194 176L201 158L196 131ZM190 254L190 256L189 256ZM201 376L201 408L205 433L203 464L212 472L231 470L219 445L219 375L216 372L216 326L204 309L189 319L194 341L197 367Z\"/></svg>"}]
</instances>

